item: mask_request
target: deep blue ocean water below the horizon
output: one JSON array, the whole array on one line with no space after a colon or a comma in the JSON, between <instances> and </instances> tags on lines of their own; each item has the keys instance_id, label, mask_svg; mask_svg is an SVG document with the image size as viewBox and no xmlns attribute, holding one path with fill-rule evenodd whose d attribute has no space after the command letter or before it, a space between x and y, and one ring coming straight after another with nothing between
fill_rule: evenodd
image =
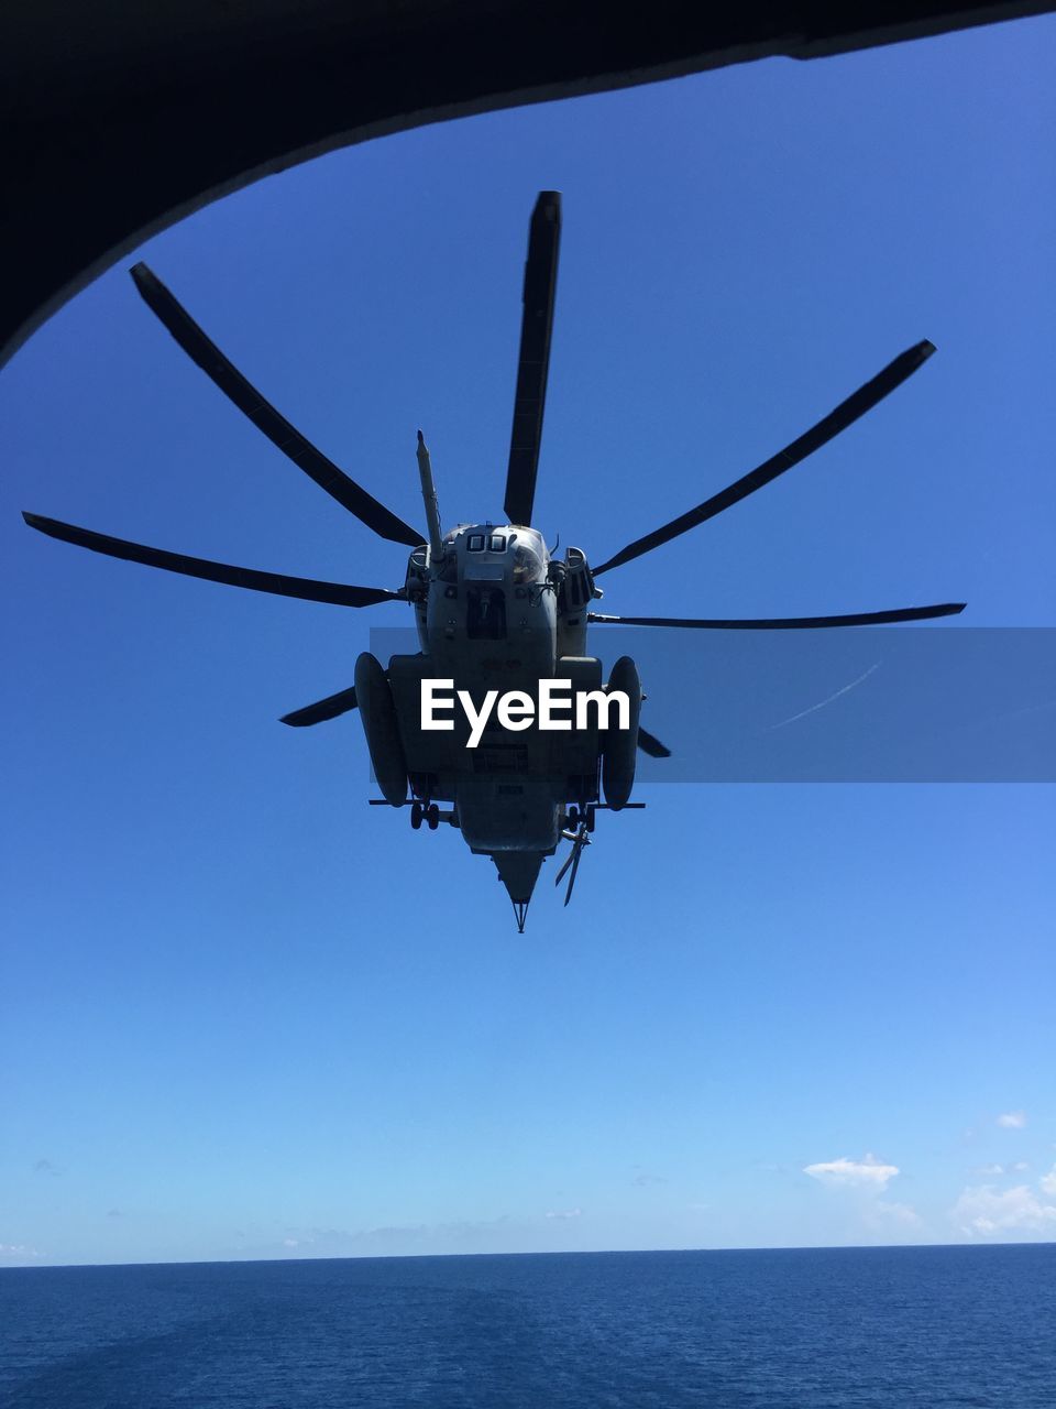
<instances>
[{"instance_id":1,"label":"deep blue ocean water below the horizon","mask_svg":"<svg viewBox=\"0 0 1056 1409\"><path fill-rule=\"evenodd\" d=\"M1056 1409L1056 1244L0 1271L6 1409Z\"/></svg>"}]
</instances>

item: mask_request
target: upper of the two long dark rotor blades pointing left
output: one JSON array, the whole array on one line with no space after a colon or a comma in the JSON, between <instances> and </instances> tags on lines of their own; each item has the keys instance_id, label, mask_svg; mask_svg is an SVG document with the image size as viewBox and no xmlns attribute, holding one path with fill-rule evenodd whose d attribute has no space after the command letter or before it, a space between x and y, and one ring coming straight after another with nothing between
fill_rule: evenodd
<instances>
[{"instance_id":1,"label":"upper of the two long dark rotor blades pointing left","mask_svg":"<svg viewBox=\"0 0 1056 1409\"><path fill-rule=\"evenodd\" d=\"M331 499L337 499L382 538L407 544L410 548L417 548L418 544L424 542L422 535L415 528L406 524L403 519L397 519L384 504L379 504L372 495L367 495L353 479L338 469L334 461L328 459L322 451L290 426L286 417L280 416L256 387L251 386L242 373L228 362L215 342L201 331L187 310L176 302L162 280L145 263L135 265L131 273L146 306L158 314L187 356L197 362L224 396L232 400L239 411L244 411L253 426L263 431L268 440L277 445L298 469L314 479L320 489L325 489Z\"/></svg>"}]
</instances>

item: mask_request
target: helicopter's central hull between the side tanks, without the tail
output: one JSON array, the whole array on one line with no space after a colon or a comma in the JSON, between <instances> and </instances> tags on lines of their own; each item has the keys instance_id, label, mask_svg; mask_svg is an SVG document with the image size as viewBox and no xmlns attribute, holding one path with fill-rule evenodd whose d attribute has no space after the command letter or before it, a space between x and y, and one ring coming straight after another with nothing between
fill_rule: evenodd
<instances>
[{"instance_id":1,"label":"helicopter's central hull between the side tanks, without the tail","mask_svg":"<svg viewBox=\"0 0 1056 1409\"><path fill-rule=\"evenodd\" d=\"M597 727L510 731L493 712L470 747L459 712L442 731L422 727L422 681L446 682L477 707L489 692L534 699L542 679L600 689L601 665L584 654L594 589L583 554L552 559L534 528L459 524L436 561L428 545L414 550L404 590L421 650L391 657L386 675L413 799L452 803L473 851L552 854L566 806L597 802Z\"/></svg>"}]
</instances>

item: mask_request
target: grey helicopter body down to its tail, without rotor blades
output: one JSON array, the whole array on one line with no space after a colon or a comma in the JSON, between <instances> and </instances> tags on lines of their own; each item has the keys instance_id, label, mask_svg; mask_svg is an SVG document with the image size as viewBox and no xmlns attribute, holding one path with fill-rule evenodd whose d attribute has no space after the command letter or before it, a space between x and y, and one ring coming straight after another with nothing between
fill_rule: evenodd
<instances>
[{"instance_id":1,"label":"grey helicopter body down to its tail, without rotor blades","mask_svg":"<svg viewBox=\"0 0 1056 1409\"><path fill-rule=\"evenodd\" d=\"M601 662L586 654L586 628L601 593L583 552L552 558L524 526L459 524L436 548L415 548L407 565L420 651L393 655L386 669L373 657L358 664L367 745L386 800L410 802L415 827L424 816L431 827L441 819L459 827L473 852L494 859L514 905L527 905L569 826L589 817L593 827L610 712L598 706ZM573 707L567 724L549 730L535 716L507 727L496 699L536 700L542 681L567 681L570 700L593 692L593 710ZM436 689L448 699L460 692L479 719L489 710L476 735L465 707L435 723L424 697ZM624 738L631 769L636 703Z\"/></svg>"}]
</instances>

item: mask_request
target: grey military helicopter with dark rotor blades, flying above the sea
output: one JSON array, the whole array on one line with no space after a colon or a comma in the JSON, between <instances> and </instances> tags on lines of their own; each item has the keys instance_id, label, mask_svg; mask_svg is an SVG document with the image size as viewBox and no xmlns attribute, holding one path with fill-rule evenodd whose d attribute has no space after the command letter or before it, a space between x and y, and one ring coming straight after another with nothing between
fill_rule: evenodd
<instances>
[{"instance_id":1,"label":"grey military helicopter with dark rotor blades, flying above the sea","mask_svg":"<svg viewBox=\"0 0 1056 1409\"><path fill-rule=\"evenodd\" d=\"M504 523L458 524L444 531L429 452L418 431L417 459L428 534L406 524L304 438L246 382L177 303L165 285L137 263L135 286L183 351L306 475L367 528L411 548L404 585L396 590L290 578L275 572L228 566L183 554L111 538L73 524L25 513L30 527L66 542L208 582L252 588L310 602L366 607L407 602L414 613L420 651L393 655L387 666L363 652L355 685L283 716L294 727L318 724L359 709L373 772L382 790L377 805L408 806L411 827L441 821L459 828L470 850L494 861L498 879L524 931L528 903L542 862L562 841L570 851L555 876L569 874L565 905L572 898L580 857L591 841L597 812L643 806L631 802L636 750L665 758L670 751L639 721L642 688L635 662L620 658L603 685L601 661L587 652L591 624L681 627L689 630L776 630L921 621L952 616L964 603L900 607L819 617L746 620L604 616L590 612L601 597L596 579L680 534L714 519L845 430L911 376L935 351L918 342L819 420L798 440L679 519L627 544L591 568L580 548L563 558L548 550L531 527L551 355L553 300L560 242L560 194L542 192L531 217L524 272L521 344L514 397L513 434L505 479ZM576 724L545 733L524 717L507 723L491 714L479 747L470 747L467 720L422 727L424 683L463 688L477 717L486 697L501 685L507 693L531 697L546 681L566 681L576 697L593 697L598 709ZM605 695L625 696L627 717L601 728ZM441 807L441 803L446 805Z\"/></svg>"}]
</instances>

